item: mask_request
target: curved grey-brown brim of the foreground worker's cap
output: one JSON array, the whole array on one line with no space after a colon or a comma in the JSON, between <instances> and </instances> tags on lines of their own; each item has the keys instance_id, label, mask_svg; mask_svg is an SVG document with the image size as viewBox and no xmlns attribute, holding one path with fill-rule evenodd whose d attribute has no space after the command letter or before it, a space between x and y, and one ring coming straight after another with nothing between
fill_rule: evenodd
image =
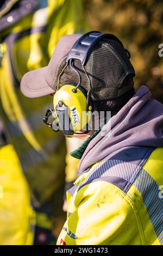
<instances>
[{"instance_id":1,"label":"curved grey-brown brim of the foreground worker's cap","mask_svg":"<svg viewBox=\"0 0 163 256\"><path fill-rule=\"evenodd\" d=\"M45 80L47 66L27 72L21 80L21 91L26 97L42 97L54 93Z\"/></svg>"}]
</instances>

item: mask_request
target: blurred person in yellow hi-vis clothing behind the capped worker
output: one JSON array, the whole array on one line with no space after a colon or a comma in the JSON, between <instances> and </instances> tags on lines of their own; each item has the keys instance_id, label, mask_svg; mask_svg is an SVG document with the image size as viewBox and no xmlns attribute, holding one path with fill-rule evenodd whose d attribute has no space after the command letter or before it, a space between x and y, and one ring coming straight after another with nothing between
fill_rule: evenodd
<instances>
[{"instance_id":1,"label":"blurred person in yellow hi-vis clothing behind the capped worker","mask_svg":"<svg viewBox=\"0 0 163 256\"><path fill-rule=\"evenodd\" d=\"M49 131L40 119L51 98L27 99L20 80L27 71L48 64L60 36L85 31L81 0L0 3L1 245L55 242L52 229L57 232L65 166L68 187L77 177L78 160L67 155L65 163L64 136ZM69 143L73 149L82 142Z\"/></svg>"}]
</instances>

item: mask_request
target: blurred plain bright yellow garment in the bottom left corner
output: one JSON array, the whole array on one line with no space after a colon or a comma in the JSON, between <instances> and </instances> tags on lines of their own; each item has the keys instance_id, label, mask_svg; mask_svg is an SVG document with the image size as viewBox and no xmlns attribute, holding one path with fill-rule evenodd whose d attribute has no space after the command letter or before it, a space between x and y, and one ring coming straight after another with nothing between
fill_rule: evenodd
<instances>
[{"instance_id":1,"label":"blurred plain bright yellow garment in the bottom left corner","mask_svg":"<svg viewBox=\"0 0 163 256\"><path fill-rule=\"evenodd\" d=\"M12 145L0 148L0 245L32 245L35 213Z\"/></svg>"}]
</instances>

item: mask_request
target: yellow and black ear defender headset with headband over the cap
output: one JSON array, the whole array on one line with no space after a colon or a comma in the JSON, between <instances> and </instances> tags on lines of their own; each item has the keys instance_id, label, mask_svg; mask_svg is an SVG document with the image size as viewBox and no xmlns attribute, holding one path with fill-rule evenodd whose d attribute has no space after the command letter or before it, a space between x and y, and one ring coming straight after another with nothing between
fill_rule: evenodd
<instances>
[{"instance_id":1,"label":"yellow and black ear defender headset with headband over the cap","mask_svg":"<svg viewBox=\"0 0 163 256\"><path fill-rule=\"evenodd\" d=\"M54 131L61 130L64 135L67 136L73 135L80 130L85 130L83 133L89 132L88 126L91 121L92 111L90 97L91 81L85 70L85 65L92 48L104 37L115 40L123 46L122 42L115 35L91 31L82 35L74 43L70 52L68 53L66 65L58 77L58 89L54 94L53 99L54 111L48 108L45 116L43 117L43 122L49 127L52 127ZM127 53L130 58L129 52ZM81 77L78 70L73 65L75 59L80 60L82 63L83 71L89 82L87 92L83 87L80 86ZM60 77L66 69L68 63L70 64L70 68L78 75L79 82L76 86L73 84L65 84L59 89ZM53 123L48 123L48 118L50 115L52 115L54 118Z\"/></svg>"}]
</instances>

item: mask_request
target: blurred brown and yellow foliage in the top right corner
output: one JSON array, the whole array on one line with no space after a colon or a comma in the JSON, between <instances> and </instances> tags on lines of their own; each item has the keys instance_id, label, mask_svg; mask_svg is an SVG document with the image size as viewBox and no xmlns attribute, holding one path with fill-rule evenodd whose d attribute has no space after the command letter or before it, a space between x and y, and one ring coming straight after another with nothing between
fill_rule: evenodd
<instances>
[{"instance_id":1,"label":"blurred brown and yellow foliage in the top right corner","mask_svg":"<svg viewBox=\"0 0 163 256\"><path fill-rule=\"evenodd\" d=\"M89 0L85 1L92 30L113 33L131 53L136 71L135 88L146 84L153 98L163 103L162 0Z\"/></svg>"}]
</instances>

